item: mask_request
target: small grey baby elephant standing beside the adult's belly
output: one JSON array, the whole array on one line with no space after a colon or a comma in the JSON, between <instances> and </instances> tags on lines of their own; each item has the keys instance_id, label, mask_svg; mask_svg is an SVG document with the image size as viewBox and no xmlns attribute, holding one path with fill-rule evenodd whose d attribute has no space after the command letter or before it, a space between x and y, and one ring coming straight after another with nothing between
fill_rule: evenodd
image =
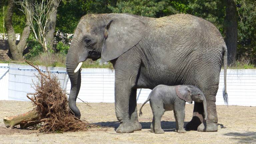
<instances>
[{"instance_id":1,"label":"small grey baby elephant standing beside the adult's belly","mask_svg":"<svg viewBox=\"0 0 256 144\"><path fill-rule=\"evenodd\" d=\"M150 126L150 131L156 134L163 134L161 128L161 117L165 111L174 110L176 121L176 132L186 133L184 130L185 118L185 103L203 102L204 117L207 118L207 105L203 92L192 85L177 85L177 86L156 86L148 96L148 99L142 104L140 108L140 116L142 115L141 109L147 101L150 101L150 106L153 111L153 121Z\"/></svg>"}]
</instances>

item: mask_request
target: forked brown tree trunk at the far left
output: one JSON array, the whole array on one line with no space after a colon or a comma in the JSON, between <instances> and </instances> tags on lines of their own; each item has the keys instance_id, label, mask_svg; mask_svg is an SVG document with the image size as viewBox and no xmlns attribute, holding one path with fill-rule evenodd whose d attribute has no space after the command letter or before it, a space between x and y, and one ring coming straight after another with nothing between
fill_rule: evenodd
<instances>
[{"instance_id":1,"label":"forked brown tree trunk at the far left","mask_svg":"<svg viewBox=\"0 0 256 144\"><path fill-rule=\"evenodd\" d=\"M10 58L13 60L22 59L23 51L27 45L27 39L30 34L30 26L28 19L26 19L26 26L23 29L23 32L20 36L20 41L18 45L16 44L16 36L14 28L12 27L12 14L14 9L15 2L14 0L8 0L7 13L5 17L5 28L7 30L8 43L9 43L9 51Z\"/></svg>"}]
</instances>

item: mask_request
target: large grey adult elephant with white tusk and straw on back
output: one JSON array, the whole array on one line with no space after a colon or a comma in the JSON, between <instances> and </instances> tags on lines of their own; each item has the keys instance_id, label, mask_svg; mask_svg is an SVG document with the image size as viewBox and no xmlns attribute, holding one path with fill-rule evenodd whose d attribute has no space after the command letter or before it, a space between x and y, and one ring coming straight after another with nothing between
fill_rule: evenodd
<instances>
[{"instance_id":1,"label":"large grey adult elephant with white tusk and straw on back","mask_svg":"<svg viewBox=\"0 0 256 144\"><path fill-rule=\"evenodd\" d=\"M162 18L115 13L83 16L66 60L71 81L69 106L78 118L80 67L87 58L100 57L103 62L110 61L115 69L115 110L120 122L116 132L141 130L136 90L153 89L159 84L200 88L207 100L208 121L202 123L203 105L195 103L193 118L186 129L218 130L215 97L223 59L226 80L227 48L210 22L186 14Z\"/></svg>"}]
</instances>

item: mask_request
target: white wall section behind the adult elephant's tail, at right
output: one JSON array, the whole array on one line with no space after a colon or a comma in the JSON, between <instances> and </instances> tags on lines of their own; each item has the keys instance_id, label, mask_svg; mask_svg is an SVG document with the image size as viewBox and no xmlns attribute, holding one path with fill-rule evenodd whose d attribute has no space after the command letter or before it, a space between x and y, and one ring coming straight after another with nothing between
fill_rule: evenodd
<instances>
[{"instance_id":1,"label":"white wall section behind the adult elephant's tail, at right","mask_svg":"<svg viewBox=\"0 0 256 144\"><path fill-rule=\"evenodd\" d=\"M222 69L216 105L224 105L223 88L224 73ZM227 93L229 105L256 106L256 69L228 69Z\"/></svg>"}]
</instances>

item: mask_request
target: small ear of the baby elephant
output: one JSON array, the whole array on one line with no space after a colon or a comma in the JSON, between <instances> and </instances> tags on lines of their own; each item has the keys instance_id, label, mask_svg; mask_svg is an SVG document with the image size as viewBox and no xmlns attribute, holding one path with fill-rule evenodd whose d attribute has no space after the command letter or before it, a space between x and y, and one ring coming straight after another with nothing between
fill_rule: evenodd
<instances>
[{"instance_id":1,"label":"small ear of the baby elephant","mask_svg":"<svg viewBox=\"0 0 256 144\"><path fill-rule=\"evenodd\" d=\"M188 86L178 85L175 88L177 96L188 103L192 103L191 90Z\"/></svg>"}]
</instances>

